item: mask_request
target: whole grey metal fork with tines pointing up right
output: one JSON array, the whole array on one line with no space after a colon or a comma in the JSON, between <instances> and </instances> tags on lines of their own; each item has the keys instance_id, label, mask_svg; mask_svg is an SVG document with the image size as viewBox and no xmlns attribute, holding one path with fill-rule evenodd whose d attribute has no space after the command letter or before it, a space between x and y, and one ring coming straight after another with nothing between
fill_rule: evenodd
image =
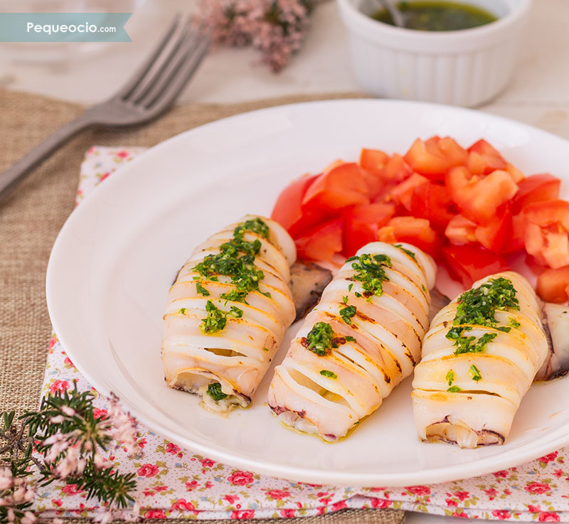
<instances>
[{"instance_id":1,"label":"whole grey metal fork with tines pointing up right","mask_svg":"<svg viewBox=\"0 0 569 524\"><path fill-rule=\"evenodd\" d=\"M0 173L0 198L71 137L89 127L126 127L159 117L174 102L206 56L207 28L176 16L150 57L119 92L85 110Z\"/></svg>"}]
</instances>

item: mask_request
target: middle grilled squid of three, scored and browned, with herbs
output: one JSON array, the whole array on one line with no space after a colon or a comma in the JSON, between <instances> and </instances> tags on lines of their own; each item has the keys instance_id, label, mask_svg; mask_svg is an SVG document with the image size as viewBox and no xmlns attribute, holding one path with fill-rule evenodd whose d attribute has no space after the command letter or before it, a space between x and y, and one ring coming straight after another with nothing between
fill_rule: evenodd
<instances>
[{"instance_id":1,"label":"middle grilled squid of three, scored and browned, with herbs","mask_svg":"<svg viewBox=\"0 0 569 524\"><path fill-rule=\"evenodd\" d=\"M371 415L420 359L435 270L407 244L372 242L348 259L275 368L279 419L334 442Z\"/></svg>"}]
</instances>

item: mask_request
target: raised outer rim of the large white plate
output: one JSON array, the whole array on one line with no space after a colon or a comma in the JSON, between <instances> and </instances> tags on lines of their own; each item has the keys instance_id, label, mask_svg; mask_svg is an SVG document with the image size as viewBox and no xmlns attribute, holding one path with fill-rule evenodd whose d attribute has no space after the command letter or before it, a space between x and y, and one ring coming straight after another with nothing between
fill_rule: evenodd
<instances>
[{"instance_id":1,"label":"raised outer rim of the large white plate","mask_svg":"<svg viewBox=\"0 0 569 524\"><path fill-rule=\"evenodd\" d=\"M107 389L104 383L101 383L100 380L95 379L92 377L89 370L85 367L80 368L81 358L73 359L73 348L70 346L65 345L65 328L63 330L60 329L61 324L59 323L58 318L58 305L56 304L55 298L55 279L56 279L56 269L57 266L57 259L60 255L60 251L63 250L65 247L65 237L68 235L68 230L73 227L75 222L81 220L81 217L84 213L87 213L87 208L89 208L91 204L91 200L96 195L105 195L105 193L112 193L112 187L118 183L117 181L123 173L128 173L129 171L136 171L137 166L139 163L142 163L147 159L148 155L155 155L161 149L166 149L169 144L172 144L176 141L183 140L190 134L198 134L203 129L210 129L211 127L223 126L225 122L234 121L238 119L248 119L251 117L255 117L258 114L262 113L271 113L271 112L282 112L286 111L290 108L295 107L307 107L307 106L314 106L314 105L349 105L356 103L358 105L400 105L401 107L411 106L417 107L420 110L423 109L435 109L435 110L443 110L443 111L451 111L457 114L467 114L467 115L474 115L474 117L483 117L490 119L494 122L501 122L507 125L514 125L519 129L524 129L531 134L541 134L548 140L558 141L560 144L564 144L566 147L569 147L569 140L563 139L558 135L555 135L551 132L547 132L544 129L540 129L538 127L531 126L530 124L526 124L525 122L518 122L515 119L502 117L500 115L487 113L478 109L469 109L465 107L455 107L450 105L442 105L436 104L432 102L417 102L417 101L408 101L408 100L391 100L391 99L373 99L373 98L342 98L342 99L331 99L331 100L314 100L314 101L307 101L307 102L293 102L286 105L276 105L271 107L263 107L261 109L254 109L252 111L243 112L239 114L234 114L229 117L225 117L222 119L215 120L213 122L208 122L206 124L202 124L201 126L194 127L192 129L187 129L184 132L176 134L164 141L155 144L154 146L149 147L146 149L142 154L139 154L136 158L132 161L129 161L127 164L120 166L113 176L110 177L109 180L105 182L102 188L105 188L103 192L101 192L102 188L98 188L97 191L92 191L92 193L83 200L81 205L75 207L70 213L67 220L63 224L60 232L55 239L53 244L53 248L50 252L50 257L48 260L48 267L46 270L46 302L48 306L48 313L50 316L50 321L53 326L53 331L58 336L60 343L62 344L65 352L72 358L73 363L77 365L78 371L83 375L83 377L90 383L93 387L96 388L97 392L100 392L105 397L108 397L111 390ZM97 198L101 198L100 196ZM86 206L86 207L85 207ZM63 247L62 247L63 245ZM77 362L75 362L77 360ZM459 480L460 478L472 478L474 476L480 476L483 474L491 474L494 471L499 471L499 469L506 469L513 466L517 466L522 464L523 462L530 461L533 459L537 459L539 456L543 456L548 454L551 451L555 451L560 447L569 444L569 433L563 434L563 428L567 429L569 424L566 424L564 427L560 427L557 430L553 430L552 433L546 438L543 439L541 445L536 448L531 448L526 451L526 453L522 453L519 458L510 457L511 454L516 456L516 449L509 449L504 453L499 453L493 456L484 457L482 459L477 459L477 461L469 461L467 464L469 465L469 469L467 475L464 476L464 473L459 473L459 471L464 467L463 464L453 464L450 466L445 466L444 468L432 470L418 470L413 472L404 472L399 474L381 474L381 472L368 474L368 473L350 473L349 471L336 471L334 474L336 475L335 478L332 480L330 478L331 471L326 470L319 470L319 469L301 469L297 466L285 466L282 464L277 464L271 466L267 464L265 460L257 460L257 459L250 459L248 457L243 457L239 455L232 454L231 451L223 451L222 449L210 448L206 445L201 444L200 442L195 442L186 437L183 437L176 434L171 429L167 427L163 427L160 424L156 424L153 419L147 417L147 415L143 411L139 411L137 407L134 406L134 402L129 400L128 398L121 398L121 404L123 405L124 409L129 410L142 424L144 424L148 429L151 431L155 431L158 434L161 434L165 438L169 439L171 442L179 444L191 451L195 451L199 454L203 454L205 456L211 457L212 459L216 459L217 461L223 462L224 464L228 464L231 466L239 467L242 469L248 469L251 471L255 471L260 474L265 474L268 476L273 477L280 477L280 478L287 478L289 480L294 481L303 481L303 482L310 482L310 483L322 483L322 484L334 484L335 486L379 486L379 485L387 485L390 487L401 487L401 486L410 486L413 484L425 484L425 483L440 483L443 481L453 481ZM490 464L491 463L491 464ZM363 479L363 480L362 480Z\"/></svg>"}]
</instances>

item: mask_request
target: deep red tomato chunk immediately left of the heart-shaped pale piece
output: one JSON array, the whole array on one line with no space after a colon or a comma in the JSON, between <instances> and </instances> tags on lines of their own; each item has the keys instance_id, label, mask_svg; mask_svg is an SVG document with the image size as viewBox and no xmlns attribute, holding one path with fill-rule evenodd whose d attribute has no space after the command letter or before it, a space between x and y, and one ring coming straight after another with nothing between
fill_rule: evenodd
<instances>
[{"instance_id":1,"label":"deep red tomato chunk immediately left of the heart-shaped pale piece","mask_svg":"<svg viewBox=\"0 0 569 524\"><path fill-rule=\"evenodd\" d=\"M424 183L417 186L411 196L411 214L427 218L433 228L443 232L454 216L454 204L444 186Z\"/></svg>"}]
</instances>

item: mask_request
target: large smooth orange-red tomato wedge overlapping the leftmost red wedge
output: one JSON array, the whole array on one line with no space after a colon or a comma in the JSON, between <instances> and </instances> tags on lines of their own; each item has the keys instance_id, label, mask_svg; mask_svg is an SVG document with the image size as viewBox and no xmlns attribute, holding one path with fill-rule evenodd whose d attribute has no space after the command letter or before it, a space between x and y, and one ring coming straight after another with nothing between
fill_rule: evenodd
<instances>
[{"instance_id":1,"label":"large smooth orange-red tomato wedge overlapping the leftmost red wedge","mask_svg":"<svg viewBox=\"0 0 569 524\"><path fill-rule=\"evenodd\" d=\"M324 171L307 189L302 209L338 210L354 204L366 204L368 186L360 166L340 164Z\"/></svg>"}]
</instances>

